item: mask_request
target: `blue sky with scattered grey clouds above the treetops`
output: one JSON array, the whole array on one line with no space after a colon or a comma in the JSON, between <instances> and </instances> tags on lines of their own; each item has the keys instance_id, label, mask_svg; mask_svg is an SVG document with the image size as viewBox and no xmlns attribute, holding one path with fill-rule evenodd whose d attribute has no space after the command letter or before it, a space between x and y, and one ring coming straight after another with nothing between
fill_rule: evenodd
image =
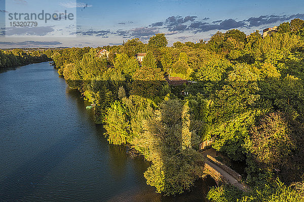
<instances>
[{"instance_id":1,"label":"blue sky with scattered grey clouds above the treetops","mask_svg":"<svg viewBox=\"0 0 304 202\"><path fill-rule=\"evenodd\" d=\"M303 8L304 1L298 0L0 0L0 48L98 47L135 37L147 43L156 33L165 33L169 46L177 41L196 43L208 41L217 31L240 29L249 34L304 19ZM13 27L8 20L10 13L42 10L67 11L74 18L37 21L37 27Z\"/></svg>"}]
</instances>

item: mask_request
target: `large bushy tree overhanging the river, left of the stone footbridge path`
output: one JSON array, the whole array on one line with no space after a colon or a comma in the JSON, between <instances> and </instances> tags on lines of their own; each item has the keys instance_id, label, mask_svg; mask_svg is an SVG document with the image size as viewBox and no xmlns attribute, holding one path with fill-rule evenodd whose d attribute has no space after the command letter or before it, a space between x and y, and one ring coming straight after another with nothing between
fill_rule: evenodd
<instances>
[{"instance_id":1,"label":"large bushy tree overhanging the river, left of the stone footbridge path","mask_svg":"<svg viewBox=\"0 0 304 202\"><path fill-rule=\"evenodd\" d=\"M144 123L144 132L134 141L146 148L145 157L152 162L145 172L147 184L158 192L175 195L189 190L201 172L196 162L202 156L191 148L195 136L189 130L187 103L169 100Z\"/></svg>"}]
</instances>

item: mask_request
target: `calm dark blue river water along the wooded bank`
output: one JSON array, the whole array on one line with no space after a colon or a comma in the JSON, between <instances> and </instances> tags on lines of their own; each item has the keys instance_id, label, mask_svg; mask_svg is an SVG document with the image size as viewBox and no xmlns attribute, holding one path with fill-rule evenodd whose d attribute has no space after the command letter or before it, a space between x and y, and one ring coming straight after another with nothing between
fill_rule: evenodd
<instances>
[{"instance_id":1,"label":"calm dark blue river water along the wooded bank","mask_svg":"<svg viewBox=\"0 0 304 202\"><path fill-rule=\"evenodd\" d=\"M210 178L155 193L148 163L109 145L88 104L48 62L0 73L0 201L205 201Z\"/></svg>"}]
</instances>

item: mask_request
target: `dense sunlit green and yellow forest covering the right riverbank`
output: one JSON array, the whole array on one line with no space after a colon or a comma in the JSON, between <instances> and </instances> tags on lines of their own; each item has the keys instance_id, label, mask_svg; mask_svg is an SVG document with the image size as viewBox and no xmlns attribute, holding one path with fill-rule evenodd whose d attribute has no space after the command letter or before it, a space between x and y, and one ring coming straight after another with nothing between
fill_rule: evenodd
<instances>
[{"instance_id":1,"label":"dense sunlit green and yellow forest covering the right riverbank","mask_svg":"<svg viewBox=\"0 0 304 202\"><path fill-rule=\"evenodd\" d=\"M264 38L232 29L167 45L159 33L147 44L133 38L102 47L108 57L89 47L51 57L69 87L95 104L109 143L150 162L143 175L157 192L191 190L204 161L198 145L212 140L245 163L250 190L213 187L210 201L304 201L304 21L284 22ZM146 53L140 63L137 53ZM192 83L170 86L168 76Z\"/></svg>"}]
</instances>

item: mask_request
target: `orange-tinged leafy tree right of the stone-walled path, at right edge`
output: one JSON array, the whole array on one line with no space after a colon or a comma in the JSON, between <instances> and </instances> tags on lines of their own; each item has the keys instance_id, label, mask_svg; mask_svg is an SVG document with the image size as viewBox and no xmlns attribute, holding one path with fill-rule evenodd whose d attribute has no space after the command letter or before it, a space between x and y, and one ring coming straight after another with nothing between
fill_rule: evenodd
<instances>
[{"instance_id":1,"label":"orange-tinged leafy tree right of the stone-walled path, at right edge","mask_svg":"<svg viewBox=\"0 0 304 202\"><path fill-rule=\"evenodd\" d=\"M262 184L269 181L275 169L280 170L278 174L286 183L301 179L303 137L302 126L289 114L272 112L263 115L252 126L250 138L246 141L250 151L247 182Z\"/></svg>"}]
</instances>

